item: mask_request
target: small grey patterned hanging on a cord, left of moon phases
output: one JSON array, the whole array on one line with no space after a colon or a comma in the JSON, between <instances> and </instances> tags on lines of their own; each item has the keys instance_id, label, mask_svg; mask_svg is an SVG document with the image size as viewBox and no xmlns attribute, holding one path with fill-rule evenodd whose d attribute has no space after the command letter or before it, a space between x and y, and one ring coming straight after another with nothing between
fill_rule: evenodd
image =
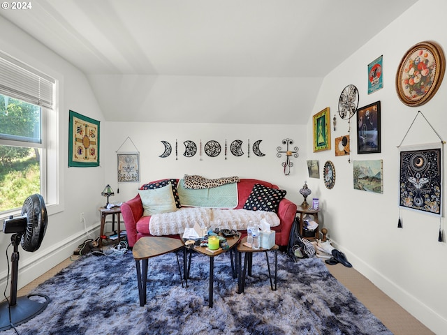
<instances>
[{"instance_id":1,"label":"small grey patterned hanging on a cord, left of moon phases","mask_svg":"<svg viewBox=\"0 0 447 335\"><path fill-rule=\"evenodd\" d=\"M120 152L119 149L121 149L124 143L126 143L127 141L131 141L133 147L135 148L135 151ZM135 144L133 143L131 137L128 136L115 152L117 153L117 163L118 163L117 164L118 183L140 181L140 152L138 151L137 147L135 147Z\"/></svg>"}]
</instances>

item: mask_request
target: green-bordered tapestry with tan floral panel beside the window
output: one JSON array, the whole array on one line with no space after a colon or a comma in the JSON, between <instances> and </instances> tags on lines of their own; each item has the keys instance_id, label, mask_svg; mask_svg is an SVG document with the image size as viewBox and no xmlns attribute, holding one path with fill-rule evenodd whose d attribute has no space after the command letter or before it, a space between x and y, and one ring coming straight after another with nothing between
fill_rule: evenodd
<instances>
[{"instance_id":1,"label":"green-bordered tapestry with tan floral panel beside the window","mask_svg":"<svg viewBox=\"0 0 447 335\"><path fill-rule=\"evenodd\" d=\"M70 111L68 167L99 166L99 121Z\"/></svg>"}]
</instances>

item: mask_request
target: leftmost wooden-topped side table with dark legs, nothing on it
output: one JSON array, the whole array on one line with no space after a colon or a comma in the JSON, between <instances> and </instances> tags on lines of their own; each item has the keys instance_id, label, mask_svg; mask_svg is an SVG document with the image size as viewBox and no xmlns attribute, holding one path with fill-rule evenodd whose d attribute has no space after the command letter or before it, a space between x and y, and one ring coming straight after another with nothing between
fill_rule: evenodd
<instances>
[{"instance_id":1,"label":"leftmost wooden-topped side table with dark legs, nothing on it","mask_svg":"<svg viewBox=\"0 0 447 335\"><path fill-rule=\"evenodd\" d=\"M183 248L184 244L182 239L173 239L170 237L141 237L136 241L132 248L133 258L135 259L135 265L137 268L137 280L138 280L138 294L140 295L140 306L146 304L146 284L147 284L147 265L149 258L170 253ZM180 269L179 257L177 256L177 264L179 265L180 279L182 280L182 270ZM183 254L184 260L186 260L186 253ZM142 269L140 267L140 261L142 261Z\"/></svg>"}]
</instances>

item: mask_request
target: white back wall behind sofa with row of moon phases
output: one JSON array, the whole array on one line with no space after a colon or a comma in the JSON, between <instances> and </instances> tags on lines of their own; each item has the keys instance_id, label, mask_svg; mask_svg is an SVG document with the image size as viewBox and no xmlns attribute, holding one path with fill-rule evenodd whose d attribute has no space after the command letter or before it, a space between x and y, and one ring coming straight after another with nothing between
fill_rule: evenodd
<instances>
[{"instance_id":1,"label":"white back wall behind sofa with row of moon phases","mask_svg":"<svg viewBox=\"0 0 447 335\"><path fill-rule=\"evenodd\" d=\"M307 178L307 170L303 156L306 155L305 126L291 125L242 125L242 124L164 124L164 123L135 123L135 122L107 122L108 146L105 147L105 177L107 183L114 190L119 188L119 194L110 198L110 202L122 202L133 198L141 184L162 178L182 178L184 174L200 174L207 178L229 177L237 175L241 178L256 178L270 181L285 189L286 198L291 201L302 202L298 190ZM130 137L130 140L126 140ZM277 147L283 151L286 146L281 141L290 138L293 147L298 147L298 158L291 158L294 163L291 174L285 176L281 163L285 161L284 154L277 158ZM178 159L175 159L175 140L178 143ZM167 158L159 156L164 151L162 140L170 142L173 151ZM210 157L203 150L202 161L199 152L193 157L185 157L184 144L192 140L199 148L210 140L221 144L221 154ZM225 140L227 140L227 159L225 159ZM234 156L230 153L230 143L242 140L244 155ZM260 149L265 156L256 156L250 148L247 155L247 144L250 147L256 140L262 140ZM124 144L123 144L124 143ZM121 148L120 148L121 147ZM135 149L136 147L136 149ZM117 154L140 152L140 183L117 184ZM199 150L198 150L199 151Z\"/></svg>"}]
</instances>

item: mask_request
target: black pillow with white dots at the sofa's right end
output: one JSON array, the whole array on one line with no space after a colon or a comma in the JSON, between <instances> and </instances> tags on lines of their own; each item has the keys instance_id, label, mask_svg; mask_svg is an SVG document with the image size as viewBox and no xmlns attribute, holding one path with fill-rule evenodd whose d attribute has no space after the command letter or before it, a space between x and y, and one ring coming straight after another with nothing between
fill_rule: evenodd
<instances>
[{"instance_id":1,"label":"black pillow with white dots at the sofa's right end","mask_svg":"<svg viewBox=\"0 0 447 335\"><path fill-rule=\"evenodd\" d=\"M286 196L287 191L270 188L261 184L254 184L244 209L250 211L274 211L276 213L279 202Z\"/></svg>"}]
</instances>

